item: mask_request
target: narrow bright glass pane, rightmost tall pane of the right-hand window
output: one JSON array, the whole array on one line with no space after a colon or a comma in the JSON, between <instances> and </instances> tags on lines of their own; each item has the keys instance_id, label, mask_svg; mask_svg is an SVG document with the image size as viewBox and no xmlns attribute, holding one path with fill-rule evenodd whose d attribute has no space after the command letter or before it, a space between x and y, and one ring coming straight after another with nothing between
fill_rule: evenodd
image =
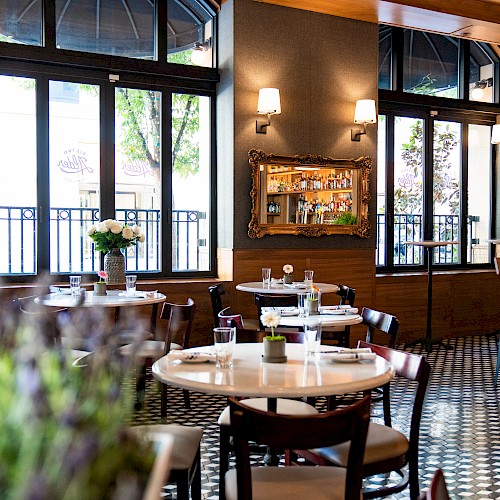
<instances>
[{"instance_id":1,"label":"narrow bright glass pane, rightmost tall pane of the right-hand window","mask_svg":"<svg viewBox=\"0 0 500 500\"><path fill-rule=\"evenodd\" d=\"M467 200L467 262L483 264L490 262L491 206L491 127L487 125L469 125L469 175Z\"/></svg>"}]
</instances>

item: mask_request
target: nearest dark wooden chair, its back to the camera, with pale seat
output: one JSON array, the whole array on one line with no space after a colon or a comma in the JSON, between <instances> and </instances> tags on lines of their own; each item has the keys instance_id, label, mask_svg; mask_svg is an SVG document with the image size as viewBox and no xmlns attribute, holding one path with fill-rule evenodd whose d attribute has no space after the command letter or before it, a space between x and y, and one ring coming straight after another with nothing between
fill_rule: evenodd
<instances>
[{"instance_id":1,"label":"nearest dark wooden chair, its back to the camera, with pale seat","mask_svg":"<svg viewBox=\"0 0 500 500\"><path fill-rule=\"evenodd\" d=\"M334 412L311 416L280 415L245 406L229 398L236 468L225 476L228 500L283 498L345 498L359 500L362 456L370 400ZM251 467L249 442L275 449L314 448L325 441L346 443L345 470L329 467Z\"/></svg>"}]
</instances>

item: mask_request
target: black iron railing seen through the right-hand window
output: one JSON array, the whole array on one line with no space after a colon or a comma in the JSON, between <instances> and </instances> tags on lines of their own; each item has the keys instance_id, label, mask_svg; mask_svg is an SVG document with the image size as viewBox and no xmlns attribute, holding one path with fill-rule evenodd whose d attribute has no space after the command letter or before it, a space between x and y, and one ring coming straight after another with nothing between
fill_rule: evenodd
<instances>
[{"instance_id":1,"label":"black iron railing seen through the right-hand window","mask_svg":"<svg viewBox=\"0 0 500 500\"><path fill-rule=\"evenodd\" d=\"M479 217L467 217L467 255L472 255L472 245L475 241L471 235L474 233L473 224L479 223ZM386 265L386 216L377 214L377 266ZM435 241L460 241L460 216L434 215L434 240ZM406 245L407 241L423 239L422 215L395 214L394 215L394 265L421 265L423 252L421 247ZM458 245L447 245L434 250L434 263L458 264Z\"/></svg>"}]
</instances>

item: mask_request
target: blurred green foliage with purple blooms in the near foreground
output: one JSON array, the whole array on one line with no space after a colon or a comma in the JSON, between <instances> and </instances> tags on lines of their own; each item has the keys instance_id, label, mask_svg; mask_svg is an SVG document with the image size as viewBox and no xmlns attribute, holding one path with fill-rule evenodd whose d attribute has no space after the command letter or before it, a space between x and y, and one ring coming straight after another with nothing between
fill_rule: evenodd
<instances>
[{"instance_id":1,"label":"blurred green foliage with purple blooms in the near foreground","mask_svg":"<svg viewBox=\"0 0 500 500\"><path fill-rule=\"evenodd\" d=\"M111 499L126 488L140 499L154 453L128 431L132 394L122 377L131 365L108 344L95 363L76 368L69 350L47 343L51 322L7 317L8 304L2 311L0 498ZM97 336L106 325L85 314L72 328Z\"/></svg>"}]
</instances>

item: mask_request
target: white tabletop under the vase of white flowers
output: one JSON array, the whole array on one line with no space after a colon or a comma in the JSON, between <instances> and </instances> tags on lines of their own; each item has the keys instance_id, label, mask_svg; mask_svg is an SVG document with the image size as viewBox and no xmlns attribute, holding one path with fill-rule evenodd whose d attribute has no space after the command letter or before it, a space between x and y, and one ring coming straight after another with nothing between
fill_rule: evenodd
<instances>
[{"instance_id":1,"label":"white tabletop under the vase of white flowers","mask_svg":"<svg viewBox=\"0 0 500 500\"><path fill-rule=\"evenodd\" d=\"M145 297L145 292L138 291L135 297L125 295L125 290L108 290L107 295L94 295L93 291L85 291L85 300L81 307L123 307L123 306L147 306L165 302L167 296L163 293L154 292L152 297ZM49 293L35 299L37 304L56 307L76 307L79 301L67 293Z\"/></svg>"}]
</instances>

